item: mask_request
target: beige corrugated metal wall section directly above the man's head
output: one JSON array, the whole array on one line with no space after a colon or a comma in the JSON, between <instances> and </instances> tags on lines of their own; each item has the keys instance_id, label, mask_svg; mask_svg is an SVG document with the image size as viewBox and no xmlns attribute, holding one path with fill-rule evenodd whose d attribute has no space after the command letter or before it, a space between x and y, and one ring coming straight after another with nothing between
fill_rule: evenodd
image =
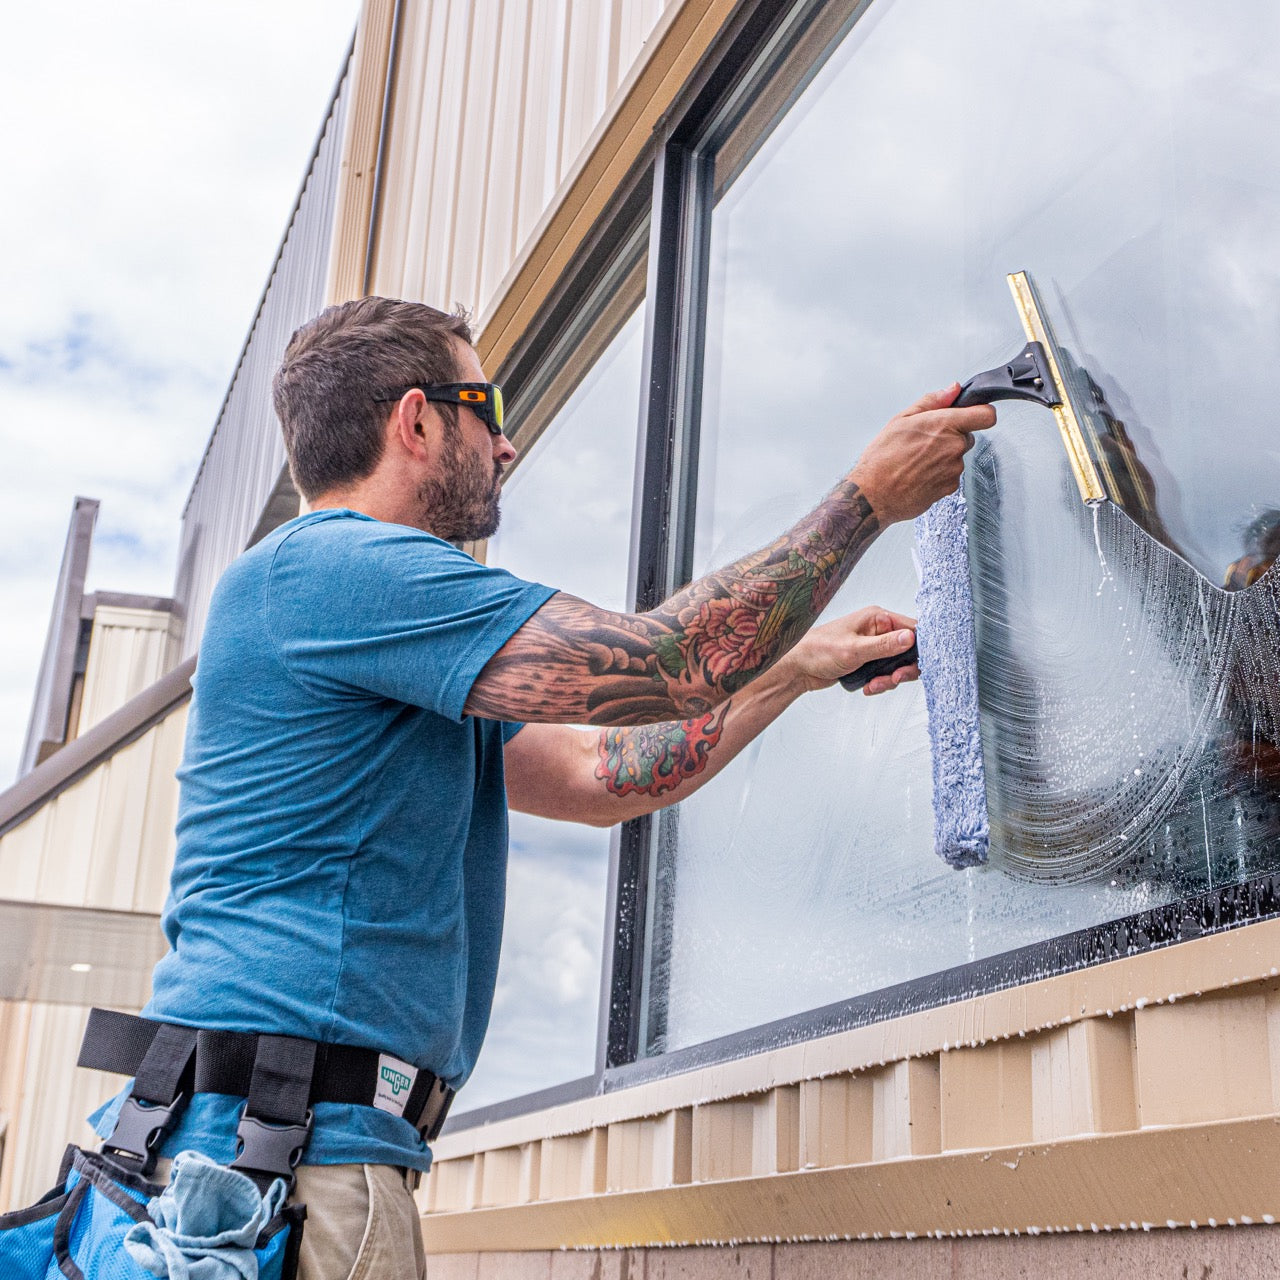
<instances>
[{"instance_id":1,"label":"beige corrugated metal wall section directly above the man's head","mask_svg":"<svg viewBox=\"0 0 1280 1280\"><path fill-rule=\"evenodd\" d=\"M681 0L404 0L372 289L483 323Z\"/></svg>"}]
</instances>

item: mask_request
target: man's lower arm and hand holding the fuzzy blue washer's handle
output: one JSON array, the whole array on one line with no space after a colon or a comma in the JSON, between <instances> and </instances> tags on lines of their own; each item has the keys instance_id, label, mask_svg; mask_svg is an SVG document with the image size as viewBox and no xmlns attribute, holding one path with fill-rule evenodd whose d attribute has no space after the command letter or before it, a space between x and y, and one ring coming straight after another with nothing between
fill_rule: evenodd
<instances>
[{"instance_id":1,"label":"man's lower arm and hand holding the fuzzy blue washer's handle","mask_svg":"<svg viewBox=\"0 0 1280 1280\"><path fill-rule=\"evenodd\" d=\"M506 749L507 799L513 809L611 827L686 799L714 777L800 694L826 689L873 658L902 653L913 618L859 609L814 627L795 649L714 710L692 719L631 728L580 730L527 724ZM916 669L879 676L879 694Z\"/></svg>"}]
</instances>

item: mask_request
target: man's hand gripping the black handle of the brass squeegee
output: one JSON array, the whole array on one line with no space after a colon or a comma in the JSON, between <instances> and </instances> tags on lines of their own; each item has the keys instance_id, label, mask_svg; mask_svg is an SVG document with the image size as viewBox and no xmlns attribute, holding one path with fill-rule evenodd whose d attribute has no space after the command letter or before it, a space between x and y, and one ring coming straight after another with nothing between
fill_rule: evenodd
<instances>
[{"instance_id":1,"label":"man's hand gripping the black handle of the brass squeegee","mask_svg":"<svg viewBox=\"0 0 1280 1280\"><path fill-rule=\"evenodd\" d=\"M938 498L955 493L964 456L973 448L973 433L995 425L996 411L989 404L950 408L959 393L960 384L952 383L922 396L891 417L858 460L852 479L881 527L911 520Z\"/></svg>"}]
</instances>

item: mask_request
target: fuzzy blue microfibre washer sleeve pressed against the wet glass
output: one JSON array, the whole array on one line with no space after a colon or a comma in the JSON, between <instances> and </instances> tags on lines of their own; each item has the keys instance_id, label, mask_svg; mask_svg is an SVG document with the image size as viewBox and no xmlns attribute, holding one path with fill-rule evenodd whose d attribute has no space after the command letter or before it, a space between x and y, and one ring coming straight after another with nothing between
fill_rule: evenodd
<instances>
[{"instance_id":1,"label":"fuzzy blue microfibre washer sleeve pressed against the wet glass","mask_svg":"<svg viewBox=\"0 0 1280 1280\"><path fill-rule=\"evenodd\" d=\"M987 860L991 828L978 722L978 649L964 494L915 521L920 681L933 751L933 842L951 867Z\"/></svg>"}]
</instances>

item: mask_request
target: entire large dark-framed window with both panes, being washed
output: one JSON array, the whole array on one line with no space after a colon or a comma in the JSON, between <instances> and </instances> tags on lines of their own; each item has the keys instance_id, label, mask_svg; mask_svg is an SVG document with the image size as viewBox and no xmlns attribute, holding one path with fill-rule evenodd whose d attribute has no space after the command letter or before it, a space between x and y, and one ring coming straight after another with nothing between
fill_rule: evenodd
<instances>
[{"instance_id":1,"label":"entire large dark-framed window with both panes, being washed","mask_svg":"<svg viewBox=\"0 0 1280 1280\"><path fill-rule=\"evenodd\" d=\"M637 179L648 283L632 186L608 305L570 280L545 321L490 559L657 603L772 539L924 389L1012 356L1019 270L1114 500L1082 503L1038 406L970 454L986 867L932 852L918 687L803 699L612 841L516 817L471 1106L1275 914L1277 37L1260 0L741 6ZM916 584L893 527L831 613L911 612Z\"/></svg>"}]
</instances>

